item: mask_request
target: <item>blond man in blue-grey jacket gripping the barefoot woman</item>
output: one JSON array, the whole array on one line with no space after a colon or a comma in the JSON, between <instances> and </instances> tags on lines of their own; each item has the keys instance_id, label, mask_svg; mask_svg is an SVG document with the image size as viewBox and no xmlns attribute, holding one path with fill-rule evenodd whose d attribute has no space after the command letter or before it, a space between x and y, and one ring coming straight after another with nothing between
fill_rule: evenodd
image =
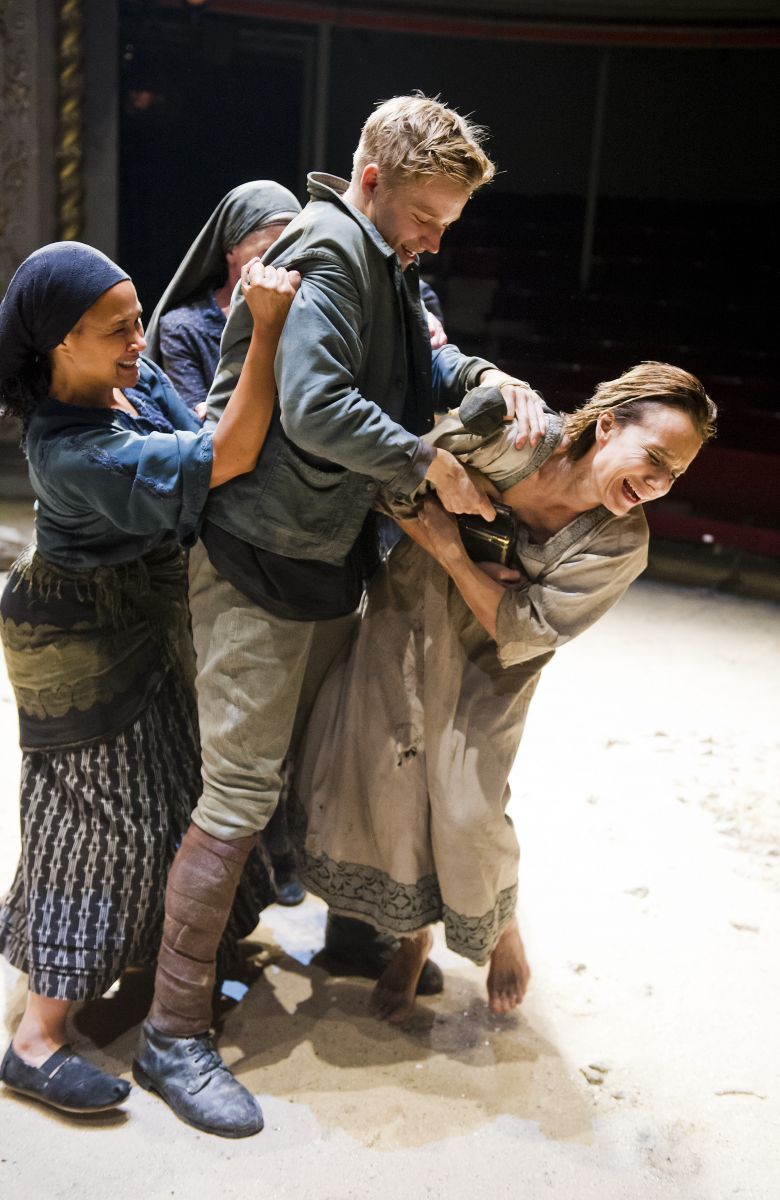
<instances>
[{"instance_id":1,"label":"blond man in blue-grey jacket gripping the barefoot woman","mask_svg":"<svg viewBox=\"0 0 780 1200\"><path fill-rule=\"evenodd\" d=\"M542 430L527 385L452 346L431 355L420 304L418 256L438 251L493 173L479 128L438 101L396 97L366 121L349 182L310 175L311 203L268 256L298 269L302 283L280 342L278 406L258 466L215 494L192 552L203 796L170 871L136 1060L143 1086L222 1136L257 1133L263 1117L208 1036L216 947L295 731L352 631L376 492L408 496L425 479L451 512L492 516L452 455L421 439L434 407L456 406L478 383L502 388L520 442ZM211 420L235 388L250 336L236 298Z\"/></svg>"}]
</instances>

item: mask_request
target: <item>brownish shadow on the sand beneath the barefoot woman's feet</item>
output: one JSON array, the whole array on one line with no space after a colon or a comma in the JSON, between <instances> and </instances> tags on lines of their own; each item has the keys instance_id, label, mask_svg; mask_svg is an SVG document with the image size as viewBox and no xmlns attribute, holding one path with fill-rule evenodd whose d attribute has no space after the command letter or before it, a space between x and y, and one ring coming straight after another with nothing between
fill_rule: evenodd
<instances>
[{"instance_id":1,"label":"brownish shadow on the sand beneath the barefoot woman's feet","mask_svg":"<svg viewBox=\"0 0 780 1200\"><path fill-rule=\"evenodd\" d=\"M376 1148L476 1132L499 1116L556 1140L590 1140L592 1105L533 1004L494 1016L468 967L446 971L443 995L390 1026L368 1013L370 980L331 976L322 956L304 965L265 929L244 948L254 983L240 1003L222 996L216 1024L226 1062L254 1093L306 1104L324 1128ZM128 972L76 1013L104 1069L127 1072L152 982L151 970Z\"/></svg>"}]
</instances>

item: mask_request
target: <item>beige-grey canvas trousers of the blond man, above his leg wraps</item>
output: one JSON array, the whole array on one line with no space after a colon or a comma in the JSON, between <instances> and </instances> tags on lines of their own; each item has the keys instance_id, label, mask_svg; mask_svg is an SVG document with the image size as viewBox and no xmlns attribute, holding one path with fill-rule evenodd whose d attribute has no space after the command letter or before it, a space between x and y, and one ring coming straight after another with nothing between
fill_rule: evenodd
<instances>
[{"instance_id":1,"label":"beige-grey canvas trousers of the blond man, above his leg wraps","mask_svg":"<svg viewBox=\"0 0 780 1200\"><path fill-rule=\"evenodd\" d=\"M203 794L192 814L230 841L268 824L282 767L319 685L347 653L356 614L305 622L275 617L190 554L190 608L198 659Z\"/></svg>"}]
</instances>

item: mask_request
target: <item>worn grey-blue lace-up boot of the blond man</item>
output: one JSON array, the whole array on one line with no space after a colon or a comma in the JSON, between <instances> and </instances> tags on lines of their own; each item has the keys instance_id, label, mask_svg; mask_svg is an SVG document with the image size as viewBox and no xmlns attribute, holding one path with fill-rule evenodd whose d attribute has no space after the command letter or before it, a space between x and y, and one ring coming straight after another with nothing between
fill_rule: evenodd
<instances>
[{"instance_id":1,"label":"worn grey-blue lace-up boot of the blond man","mask_svg":"<svg viewBox=\"0 0 780 1200\"><path fill-rule=\"evenodd\" d=\"M230 1074L208 1033L175 1038L144 1021L133 1076L196 1129L251 1138L263 1128L260 1105Z\"/></svg>"}]
</instances>

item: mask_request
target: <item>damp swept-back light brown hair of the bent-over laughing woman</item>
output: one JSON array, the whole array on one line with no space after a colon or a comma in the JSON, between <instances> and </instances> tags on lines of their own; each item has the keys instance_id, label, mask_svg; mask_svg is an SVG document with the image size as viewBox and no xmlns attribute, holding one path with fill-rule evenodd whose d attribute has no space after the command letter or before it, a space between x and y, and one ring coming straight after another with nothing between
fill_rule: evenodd
<instances>
[{"instance_id":1,"label":"damp swept-back light brown hair of the bent-over laughing woman","mask_svg":"<svg viewBox=\"0 0 780 1200\"><path fill-rule=\"evenodd\" d=\"M595 440L601 413L613 412L616 421L641 421L648 406L658 403L688 413L702 442L715 436L718 408L696 376L668 362L640 362L618 379L600 383L587 403L564 416L571 439L570 458L582 458Z\"/></svg>"}]
</instances>

